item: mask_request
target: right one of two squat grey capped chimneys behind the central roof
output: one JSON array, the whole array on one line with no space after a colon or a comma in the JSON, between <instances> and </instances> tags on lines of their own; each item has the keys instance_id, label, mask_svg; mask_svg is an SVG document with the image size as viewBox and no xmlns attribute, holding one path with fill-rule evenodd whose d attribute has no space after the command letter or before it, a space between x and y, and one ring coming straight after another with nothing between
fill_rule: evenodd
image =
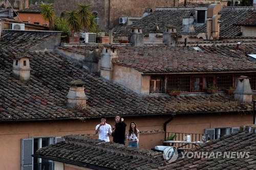
<instances>
[{"instance_id":1,"label":"right one of two squat grey capped chimneys behind the central roof","mask_svg":"<svg viewBox=\"0 0 256 170\"><path fill-rule=\"evenodd\" d=\"M165 32L163 33L163 43L167 46L175 46L177 43L177 29L174 26L165 26Z\"/></svg>"}]
</instances>

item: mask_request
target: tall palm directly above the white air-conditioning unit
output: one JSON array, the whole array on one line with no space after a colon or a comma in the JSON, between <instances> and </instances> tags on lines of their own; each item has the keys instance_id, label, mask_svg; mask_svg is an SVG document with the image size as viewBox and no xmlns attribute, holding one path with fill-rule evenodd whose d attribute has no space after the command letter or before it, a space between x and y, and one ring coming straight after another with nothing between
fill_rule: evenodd
<instances>
[{"instance_id":1,"label":"tall palm directly above the white air-conditioning unit","mask_svg":"<svg viewBox=\"0 0 256 170\"><path fill-rule=\"evenodd\" d=\"M83 28L83 32L87 32L89 29L89 26L92 23L91 16L93 15L93 13L90 11L91 4L77 4L77 5L78 5L77 15L80 18L79 21L81 23L81 27Z\"/></svg>"}]
</instances>

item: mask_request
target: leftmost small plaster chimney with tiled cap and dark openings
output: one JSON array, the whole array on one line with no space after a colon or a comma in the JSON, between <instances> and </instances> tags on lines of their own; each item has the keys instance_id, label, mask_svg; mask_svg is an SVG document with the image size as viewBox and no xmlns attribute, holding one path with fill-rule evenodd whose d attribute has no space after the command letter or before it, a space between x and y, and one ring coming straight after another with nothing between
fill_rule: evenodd
<instances>
[{"instance_id":1,"label":"leftmost small plaster chimney with tiled cap and dark openings","mask_svg":"<svg viewBox=\"0 0 256 170\"><path fill-rule=\"evenodd\" d=\"M14 56L12 75L20 80L27 82L30 80L30 64L29 59L32 58L27 53L17 53Z\"/></svg>"}]
</instances>

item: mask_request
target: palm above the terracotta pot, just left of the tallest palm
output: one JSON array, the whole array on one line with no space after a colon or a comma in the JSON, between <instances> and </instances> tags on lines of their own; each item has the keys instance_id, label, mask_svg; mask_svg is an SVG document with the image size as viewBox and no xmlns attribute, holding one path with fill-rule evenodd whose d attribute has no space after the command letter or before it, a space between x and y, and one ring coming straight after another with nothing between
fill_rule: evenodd
<instances>
[{"instance_id":1,"label":"palm above the terracotta pot, just left of the tallest palm","mask_svg":"<svg viewBox=\"0 0 256 170\"><path fill-rule=\"evenodd\" d=\"M67 16L67 22L69 27L73 30L71 31L71 36L74 36L74 33L79 33L81 30L81 25L78 20L78 15L76 10L65 11L64 14Z\"/></svg>"}]
</instances>

